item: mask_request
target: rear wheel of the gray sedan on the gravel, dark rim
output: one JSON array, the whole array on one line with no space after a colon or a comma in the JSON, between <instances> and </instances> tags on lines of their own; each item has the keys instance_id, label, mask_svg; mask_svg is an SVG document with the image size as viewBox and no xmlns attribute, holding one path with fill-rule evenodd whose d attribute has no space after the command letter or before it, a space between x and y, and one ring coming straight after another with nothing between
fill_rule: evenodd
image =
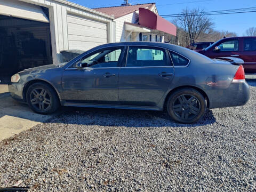
<instances>
[{"instance_id":1,"label":"rear wheel of the gray sedan on the gravel, dark rim","mask_svg":"<svg viewBox=\"0 0 256 192\"><path fill-rule=\"evenodd\" d=\"M185 88L173 92L167 101L168 114L180 123L195 123L206 109L205 98L195 89Z\"/></svg>"}]
</instances>

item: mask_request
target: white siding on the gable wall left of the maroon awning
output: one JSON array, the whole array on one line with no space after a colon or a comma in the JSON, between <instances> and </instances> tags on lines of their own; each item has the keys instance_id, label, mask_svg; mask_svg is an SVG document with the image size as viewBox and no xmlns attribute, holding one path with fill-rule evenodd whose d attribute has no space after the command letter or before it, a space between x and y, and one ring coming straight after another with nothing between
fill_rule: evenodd
<instances>
[{"instance_id":1,"label":"white siding on the gable wall left of the maroon awning","mask_svg":"<svg viewBox=\"0 0 256 192\"><path fill-rule=\"evenodd\" d=\"M116 42L125 42L125 27L124 22L136 23L139 19L139 14L136 12L124 15L115 19L116 22Z\"/></svg>"}]
</instances>

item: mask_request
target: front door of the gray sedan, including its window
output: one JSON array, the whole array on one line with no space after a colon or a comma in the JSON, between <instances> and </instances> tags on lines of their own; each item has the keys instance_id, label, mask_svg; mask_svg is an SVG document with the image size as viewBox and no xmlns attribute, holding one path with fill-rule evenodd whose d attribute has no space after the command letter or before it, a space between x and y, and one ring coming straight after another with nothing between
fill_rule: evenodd
<instances>
[{"instance_id":1,"label":"front door of the gray sedan, including its window","mask_svg":"<svg viewBox=\"0 0 256 192\"><path fill-rule=\"evenodd\" d=\"M76 103L118 103L118 74L124 47L97 50L74 62L62 75L62 97Z\"/></svg>"}]
</instances>

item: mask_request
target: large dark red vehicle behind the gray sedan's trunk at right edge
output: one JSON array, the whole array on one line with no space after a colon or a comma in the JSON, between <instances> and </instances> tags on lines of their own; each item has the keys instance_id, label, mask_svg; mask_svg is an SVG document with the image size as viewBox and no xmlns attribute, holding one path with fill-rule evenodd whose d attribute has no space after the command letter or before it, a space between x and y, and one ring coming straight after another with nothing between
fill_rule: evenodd
<instances>
[{"instance_id":1,"label":"large dark red vehicle behind the gray sedan's trunk at right edge","mask_svg":"<svg viewBox=\"0 0 256 192\"><path fill-rule=\"evenodd\" d=\"M246 74L256 74L256 37L222 38L204 50L195 50L209 58L236 57L244 60Z\"/></svg>"}]
</instances>

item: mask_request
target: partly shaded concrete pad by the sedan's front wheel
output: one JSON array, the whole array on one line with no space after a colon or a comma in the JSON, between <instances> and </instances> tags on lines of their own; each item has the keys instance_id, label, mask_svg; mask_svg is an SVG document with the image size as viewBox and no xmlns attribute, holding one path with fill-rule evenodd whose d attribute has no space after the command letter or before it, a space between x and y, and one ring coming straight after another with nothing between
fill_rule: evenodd
<instances>
[{"instance_id":1,"label":"partly shaded concrete pad by the sedan's front wheel","mask_svg":"<svg viewBox=\"0 0 256 192\"><path fill-rule=\"evenodd\" d=\"M13 100L6 85L0 85L0 141L43 123L54 115L34 113L26 104Z\"/></svg>"}]
</instances>

